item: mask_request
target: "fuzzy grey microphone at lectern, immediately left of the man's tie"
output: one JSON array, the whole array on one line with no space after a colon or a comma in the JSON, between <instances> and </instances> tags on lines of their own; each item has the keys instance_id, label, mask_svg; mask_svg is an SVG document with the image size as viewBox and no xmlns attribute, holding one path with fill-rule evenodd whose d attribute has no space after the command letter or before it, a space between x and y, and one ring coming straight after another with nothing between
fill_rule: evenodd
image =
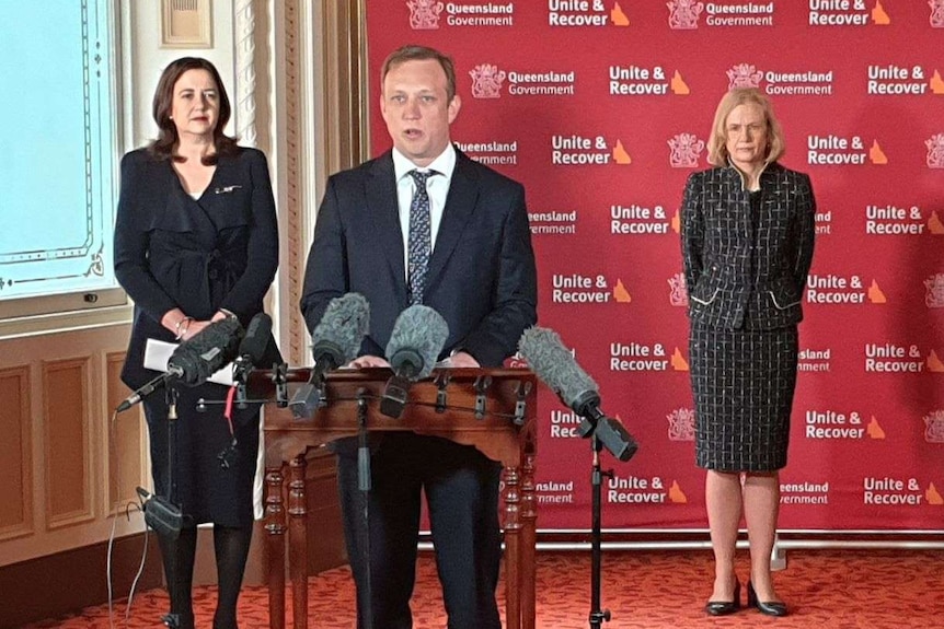
<instances>
[{"instance_id":1,"label":"fuzzy grey microphone at lectern, immediately left of the man's tie","mask_svg":"<svg viewBox=\"0 0 944 629\"><path fill-rule=\"evenodd\" d=\"M288 406L296 419L310 419L324 398L324 374L357 358L369 331L370 304L360 293L334 298L311 333L314 365L308 382L295 392Z\"/></svg>"}]
</instances>

